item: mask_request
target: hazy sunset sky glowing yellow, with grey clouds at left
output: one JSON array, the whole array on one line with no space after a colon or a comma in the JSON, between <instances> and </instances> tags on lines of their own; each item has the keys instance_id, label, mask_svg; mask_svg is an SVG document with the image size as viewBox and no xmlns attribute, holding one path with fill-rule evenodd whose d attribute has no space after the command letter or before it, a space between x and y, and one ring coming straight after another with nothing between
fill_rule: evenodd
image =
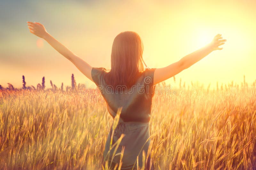
<instances>
[{"instance_id":1,"label":"hazy sunset sky glowing yellow, with grey clouds at left","mask_svg":"<svg viewBox=\"0 0 256 170\"><path fill-rule=\"evenodd\" d=\"M247 1L82 1L2 0L0 2L0 84L36 86L45 76L57 87L93 82L47 42L29 32L27 21L42 23L47 32L88 62L110 69L111 47L117 34L137 32L143 58L151 68L165 67L210 43L220 33L223 50L213 51L175 76L176 85L191 81L215 86L218 81L256 79L256 6ZM176 86L173 78L167 84Z\"/></svg>"}]
</instances>

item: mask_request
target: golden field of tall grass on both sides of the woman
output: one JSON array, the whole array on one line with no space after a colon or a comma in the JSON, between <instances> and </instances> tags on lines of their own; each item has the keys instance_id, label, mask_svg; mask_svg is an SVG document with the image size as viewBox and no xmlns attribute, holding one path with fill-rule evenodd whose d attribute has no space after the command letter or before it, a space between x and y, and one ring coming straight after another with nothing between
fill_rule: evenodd
<instances>
[{"instance_id":1,"label":"golden field of tall grass on both sides of the woman","mask_svg":"<svg viewBox=\"0 0 256 170\"><path fill-rule=\"evenodd\" d=\"M153 97L156 169L256 169L256 87ZM96 90L0 90L0 169L100 169L112 118Z\"/></svg>"}]
</instances>

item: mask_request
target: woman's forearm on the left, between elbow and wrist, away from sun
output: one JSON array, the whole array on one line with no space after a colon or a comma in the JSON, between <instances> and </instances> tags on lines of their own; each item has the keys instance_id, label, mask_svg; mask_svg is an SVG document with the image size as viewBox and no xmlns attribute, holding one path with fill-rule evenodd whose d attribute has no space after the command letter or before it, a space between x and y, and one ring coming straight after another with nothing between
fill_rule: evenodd
<instances>
[{"instance_id":1,"label":"woman's forearm on the left, between elbow and wrist, away from sun","mask_svg":"<svg viewBox=\"0 0 256 170\"><path fill-rule=\"evenodd\" d=\"M72 56L75 54L70 51L67 47L65 47L63 44L61 44L57 39L52 37L51 34L48 32L43 37L55 50L57 50L61 55L66 57L68 60L72 59Z\"/></svg>"}]
</instances>

